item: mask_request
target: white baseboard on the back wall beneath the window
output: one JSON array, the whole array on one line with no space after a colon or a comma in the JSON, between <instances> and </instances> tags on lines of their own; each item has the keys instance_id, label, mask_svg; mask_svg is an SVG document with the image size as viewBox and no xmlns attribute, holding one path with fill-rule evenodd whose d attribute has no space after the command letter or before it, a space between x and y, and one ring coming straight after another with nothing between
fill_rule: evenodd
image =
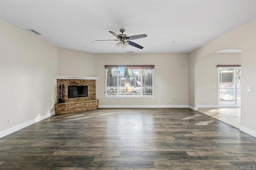
<instances>
[{"instance_id":1,"label":"white baseboard on the back wall beneath the window","mask_svg":"<svg viewBox=\"0 0 256 170\"><path fill-rule=\"evenodd\" d=\"M188 108L188 105L99 105L98 108Z\"/></svg>"}]
</instances>

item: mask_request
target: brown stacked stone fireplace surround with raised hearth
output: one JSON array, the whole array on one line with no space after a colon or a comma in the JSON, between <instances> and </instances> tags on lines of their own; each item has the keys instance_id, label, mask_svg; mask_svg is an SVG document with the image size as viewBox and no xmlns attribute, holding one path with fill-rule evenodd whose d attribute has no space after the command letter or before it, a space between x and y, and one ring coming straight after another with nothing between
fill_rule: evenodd
<instances>
[{"instance_id":1,"label":"brown stacked stone fireplace surround with raised hearth","mask_svg":"<svg viewBox=\"0 0 256 170\"><path fill-rule=\"evenodd\" d=\"M65 103L55 104L55 114L65 115L98 109L96 99L96 80L57 79L57 102L59 99L59 86L65 86ZM68 86L88 86L88 97L68 98Z\"/></svg>"}]
</instances>

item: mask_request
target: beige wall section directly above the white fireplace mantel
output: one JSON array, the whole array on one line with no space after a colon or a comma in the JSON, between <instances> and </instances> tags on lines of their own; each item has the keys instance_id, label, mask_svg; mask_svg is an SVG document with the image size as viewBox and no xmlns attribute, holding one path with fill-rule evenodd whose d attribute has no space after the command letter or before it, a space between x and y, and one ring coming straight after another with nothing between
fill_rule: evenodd
<instances>
[{"instance_id":1,"label":"beige wall section directly above the white fireplace mantel","mask_svg":"<svg viewBox=\"0 0 256 170\"><path fill-rule=\"evenodd\" d=\"M58 75L95 76L95 54L58 48Z\"/></svg>"}]
</instances>

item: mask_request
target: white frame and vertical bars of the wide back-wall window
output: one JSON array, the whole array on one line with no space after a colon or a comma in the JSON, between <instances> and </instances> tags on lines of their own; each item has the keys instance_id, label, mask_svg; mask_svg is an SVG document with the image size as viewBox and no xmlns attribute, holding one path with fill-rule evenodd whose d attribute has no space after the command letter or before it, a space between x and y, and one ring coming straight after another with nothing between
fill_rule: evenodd
<instances>
[{"instance_id":1,"label":"white frame and vertical bars of the wide back-wall window","mask_svg":"<svg viewBox=\"0 0 256 170\"><path fill-rule=\"evenodd\" d=\"M118 68L117 68L118 70ZM142 85L140 86L141 95L118 95L118 82L119 82L119 76L117 76L117 92L116 95L107 95L107 76L108 76L108 69L105 69L105 98L136 98L136 99L150 99L154 98L154 69L152 70L152 95L142 95ZM140 75L141 75L141 82L143 82L143 69L140 69Z\"/></svg>"}]
</instances>

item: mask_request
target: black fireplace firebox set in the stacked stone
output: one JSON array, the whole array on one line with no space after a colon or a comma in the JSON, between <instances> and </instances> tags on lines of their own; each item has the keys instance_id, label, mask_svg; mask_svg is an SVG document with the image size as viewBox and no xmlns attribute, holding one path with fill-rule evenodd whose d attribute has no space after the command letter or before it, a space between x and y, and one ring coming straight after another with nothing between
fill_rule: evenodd
<instances>
[{"instance_id":1,"label":"black fireplace firebox set in the stacked stone","mask_svg":"<svg viewBox=\"0 0 256 170\"><path fill-rule=\"evenodd\" d=\"M88 97L88 86L68 86L68 98Z\"/></svg>"}]
</instances>

